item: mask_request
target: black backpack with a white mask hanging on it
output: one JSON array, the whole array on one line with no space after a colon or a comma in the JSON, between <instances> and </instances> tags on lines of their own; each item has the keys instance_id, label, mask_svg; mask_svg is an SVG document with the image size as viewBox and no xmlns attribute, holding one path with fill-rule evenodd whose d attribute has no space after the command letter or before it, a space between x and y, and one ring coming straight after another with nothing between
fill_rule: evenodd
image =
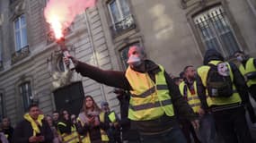
<instances>
[{"instance_id":1,"label":"black backpack with a white mask hanging on it","mask_svg":"<svg viewBox=\"0 0 256 143\"><path fill-rule=\"evenodd\" d=\"M218 67L225 67L229 73L227 63L218 63L217 65L208 63L210 69L207 73L207 92L209 97L231 97L233 95L233 83L229 74L224 75L218 70Z\"/></svg>"}]
</instances>

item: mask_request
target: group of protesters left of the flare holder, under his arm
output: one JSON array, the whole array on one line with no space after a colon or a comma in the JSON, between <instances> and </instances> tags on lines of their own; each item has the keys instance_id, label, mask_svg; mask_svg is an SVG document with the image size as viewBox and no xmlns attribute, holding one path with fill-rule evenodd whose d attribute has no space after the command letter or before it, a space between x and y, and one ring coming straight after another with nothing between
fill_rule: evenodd
<instances>
[{"instance_id":1,"label":"group of protesters left of the flare holder, under his arm","mask_svg":"<svg viewBox=\"0 0 256 143\"><path fill-rule=\"evenodd\" d=\"M98 106L92 96L85 96L81 113L68 109L43 114L39 105L31 104L28 113L15 129L9 118L2 120L1 143L125 143L139 142L137 130L131 129L128 120L128 93L115 88L120 104L121 118L110 110L109 103ZM122 133L121 133L122 132Z\"/></svg>"}]
</instances>

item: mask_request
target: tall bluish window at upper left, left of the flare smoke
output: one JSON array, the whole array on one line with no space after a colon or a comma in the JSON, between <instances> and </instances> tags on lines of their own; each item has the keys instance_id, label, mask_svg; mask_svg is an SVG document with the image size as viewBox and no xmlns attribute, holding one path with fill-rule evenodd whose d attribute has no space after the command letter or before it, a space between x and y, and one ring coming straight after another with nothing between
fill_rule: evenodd
<instances>
[{"instance_id":1,"label":"tall bluish window at upper left, left of the flare smoke","mask_svg":"<svg viewBox=\"0 0 256 143\"><path fill-rule=\"evenodd\" d=\"M14 21L15 32L15 51L20 51L23 47L28 46L27 41L27 23L25 15L22 14Z\"/></svg>"}]
</instances>

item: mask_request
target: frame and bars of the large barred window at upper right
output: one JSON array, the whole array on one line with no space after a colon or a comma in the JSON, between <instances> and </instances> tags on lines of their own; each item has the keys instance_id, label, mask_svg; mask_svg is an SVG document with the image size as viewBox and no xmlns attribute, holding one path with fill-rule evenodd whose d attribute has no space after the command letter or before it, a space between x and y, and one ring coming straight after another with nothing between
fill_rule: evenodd
<instances>
[{"instance_id":1,"label":"frame and bars of the large barred window at upper right","mask_svg":"<svg viewBox=\"0 0 256 143\"><path fill-rule=\"evenodd\" d=\"M213 14L214 12L216 12L216 15L210 15L210 14ZM197 21L199 21L199 19L202 20L202 18L204 20L197 23ZM200 40L203 43L205 49L209 48L207 46L207 42L210 42L211 40L215 39L216 46L217 46L216 50L221 52L225 57L232 56L233 53L231 53L231 51L241 50L241 45L239 43L239 40L238 38L236 38L234 29L222 5L216 5L216 6L210 7L207 10L196 14L196 16L192 17L192 19L194 21L194 25L196 25L197 27L196 28L197 32L199 33ZM217 22L221 22L221 27L223 27L222 29L223 31L220 31L219 28L216 28L216 26L220 26L218 25ZM203 26L200 26L201 24L203 24ZM224 29L225 25L227 25L226 28L228 29ZM203 29L207 30L207 33L210 35L205 36L202 31ZM222 36L224 36L227 33L231 33L231 36L234 38L234 40L233 39L229 40L229 42L233 41L233 44L231 45L235 45L234 47L225 48L226 43L222 38Z\"/></svg>"}]
</instances>

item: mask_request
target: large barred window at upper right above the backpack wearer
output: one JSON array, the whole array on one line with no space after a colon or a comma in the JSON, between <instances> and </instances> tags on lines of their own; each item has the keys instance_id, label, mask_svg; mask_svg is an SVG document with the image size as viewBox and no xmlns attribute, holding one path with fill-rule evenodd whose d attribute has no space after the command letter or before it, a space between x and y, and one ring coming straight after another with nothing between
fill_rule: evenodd
<instances>
[{"instance_id":1,"label":"large barred window at upper right above the backpack wearer","mask_svg":"<svg viewBox=\"0 0 256 143\"><path fill-rule=\"evenodd\" d=\"M222 6L199 13L193 20L206 50L216 49L225 57L239 50L234 31Z\"/></svg>"}]
</instances>

